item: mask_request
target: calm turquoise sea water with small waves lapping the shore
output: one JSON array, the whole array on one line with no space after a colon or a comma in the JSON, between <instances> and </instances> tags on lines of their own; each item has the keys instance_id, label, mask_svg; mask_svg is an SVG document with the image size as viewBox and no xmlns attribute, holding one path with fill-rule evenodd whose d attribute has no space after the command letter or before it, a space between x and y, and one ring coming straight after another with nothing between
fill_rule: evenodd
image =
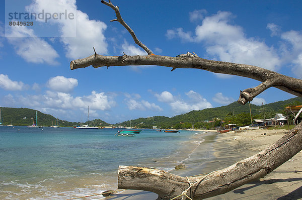
<instances>
[{"instance_id":1,"label":"calm turquoise sea water with small waves lapping the shore","mask_svg":"<svg viewBox=\"0 0 302 200\"><path fill-rule=\"evenodd\" d=\"M135 137L116 132L0 127L0 199L67 199L116 189L119 165L169 171L188 158L183 149L204 141L203 133L196 141L192 131L142 130Z\"/></svg>"}]
</instances>

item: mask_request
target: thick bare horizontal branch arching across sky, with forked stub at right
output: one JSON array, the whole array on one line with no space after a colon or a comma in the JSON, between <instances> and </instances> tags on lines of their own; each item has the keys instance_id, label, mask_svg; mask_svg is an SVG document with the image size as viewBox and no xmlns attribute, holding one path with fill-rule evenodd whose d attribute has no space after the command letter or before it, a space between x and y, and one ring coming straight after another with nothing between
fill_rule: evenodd
<instances>
[{"instance_id":1,"label":"thick bare horizontal branch arching across sky, with forked stub at right","mask_svg":"<svg viewBox=\"0 0 302 200\"><path fill-rule=\"evenodd\" d=\"M155 65L172 67L172 70L176 68L203 69L215 73L238 75L261 81L262 83L260 85L240 92L238 102L243 105L247 102L251 102L255 96L272 86L302 97L301 79L285 76L257 66L206 60L196 57L193 54L187 54L182 54L177 57L159 55L95 56L94 54L87 58L71 61L70 69L78 69L90 65L93 65L95 68L102 66Z\"/></svg>"}]
</instances>

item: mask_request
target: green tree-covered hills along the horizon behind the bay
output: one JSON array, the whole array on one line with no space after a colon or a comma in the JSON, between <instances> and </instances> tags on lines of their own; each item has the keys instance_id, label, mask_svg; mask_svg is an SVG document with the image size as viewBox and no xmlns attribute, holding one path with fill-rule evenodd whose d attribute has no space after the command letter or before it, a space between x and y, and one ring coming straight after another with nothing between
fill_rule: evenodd
<instances>
[{"instance_id":1,"label":"green tree-covered hills along the horizon behind the bay","mask_svg":"<svg viewBox=\"0 0 302 200\"><path fill-rule=\"evenodd\" d=\"M251 104L251 112L253 119L272 118L276 113L284 113L284 107L290 104L302 104L302 98L295 97L285 101L279 101L262 106L256 106ZM1 107L0 107L1 108ZM132 127L138 128L152 128L157 126L159 128L181 128L177 127L182 123L182 127L190 128L192 125L198 125L196 128L205 126L204 121L219 121L224 120L226 116L239 115L242 113L250 114L249 105L244 106L234 102L228 106L221 106L218 108L204 109L201 111L191 111L186 114L177 115L174 117L154 116L149 118L138 118L131 120ZM3 108L2 107L2 119L1 122L4 125L13 124L15 126L27 126L33 124L33 118L36 116L36 111L27 108ZM39 126L51 126L55 123L55 117L37 112L37 125ZM79 125L79 122L68 122L65 120L58 120L58 125L63 127L71 127L73 125ZM111 124L96 119L88 121L83 124L89 124L90 126L111 126ZM209 123L207 123L209 124ZM130 120L122 123L117 123L114 126L130 126ZM213 124L211 125L213 126ZM210 127L205 127L210 128Z\"/></svg>"}]
</instances>

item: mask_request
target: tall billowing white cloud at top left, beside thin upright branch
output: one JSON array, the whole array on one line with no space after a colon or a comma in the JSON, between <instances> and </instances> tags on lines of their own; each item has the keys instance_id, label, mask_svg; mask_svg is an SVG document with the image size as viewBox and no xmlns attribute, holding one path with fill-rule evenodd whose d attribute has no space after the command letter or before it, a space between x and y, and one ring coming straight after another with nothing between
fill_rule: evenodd
<instances>
[{"instance_id":1,"label":"tall billowing white cloud at top left, beside thin upright branch","mask_svg":"<svg viewBox=\"0 0 302 200\"><path fill-rule=\"evenodd\" d=\"M27 9L32 12L44 10L48 13L64 13L67 10L74 14L75 24L70 20L51 21L60 26L61 42L65 45L67 58L77 59L92 55L93 47L97 53L107 54L108 44L104 36L107 25L101 21L90 20L86 13L77 10L75 0L36 0ZM70 37L70 31L74 30L76 37Z\"/></svg>"}]
</instances>

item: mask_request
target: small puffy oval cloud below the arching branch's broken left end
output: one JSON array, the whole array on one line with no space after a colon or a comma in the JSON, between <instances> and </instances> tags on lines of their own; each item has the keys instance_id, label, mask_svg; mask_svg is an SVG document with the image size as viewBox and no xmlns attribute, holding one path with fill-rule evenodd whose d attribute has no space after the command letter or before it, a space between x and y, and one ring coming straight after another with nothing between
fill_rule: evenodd
<instances>
[{"instance_id":1,"label":"small puffy oval cloud below the arching branch's broken left end","mask_svg":"<svg viewBox=\"0 0 302 200\"><path fill-rule=\"evenodd\" d=\"M59 92L68 93L78 86L78 80L75 78L66 78L64 76L52 77L47 82L47 87Z\"/></svg>"}]
</instances>

